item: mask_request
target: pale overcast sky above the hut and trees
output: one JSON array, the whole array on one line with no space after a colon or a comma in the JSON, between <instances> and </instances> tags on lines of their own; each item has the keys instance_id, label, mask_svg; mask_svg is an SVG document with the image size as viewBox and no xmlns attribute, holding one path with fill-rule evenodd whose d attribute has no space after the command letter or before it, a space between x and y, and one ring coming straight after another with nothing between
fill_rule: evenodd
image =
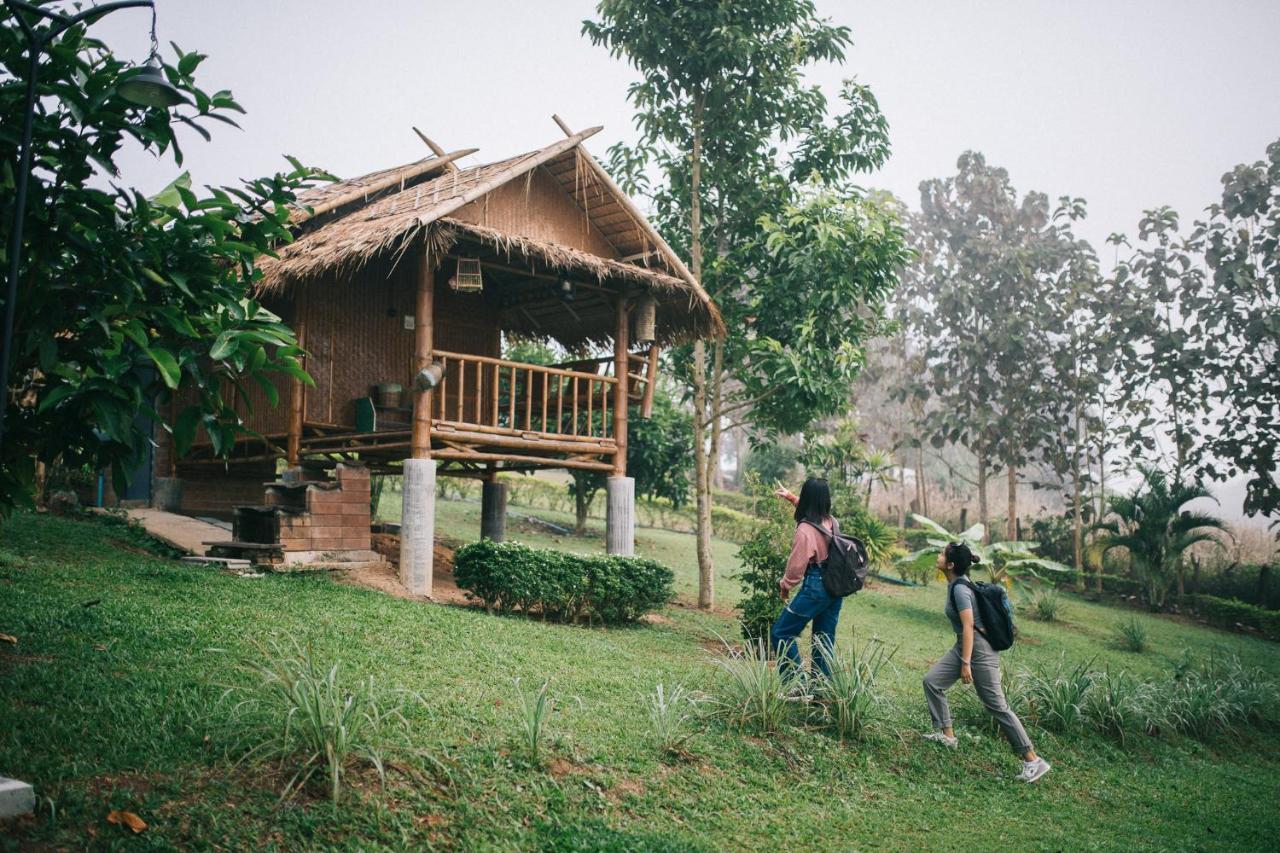
<instances>
[{"instance_id":1,"label":"pale overcast sky above the hut and trees","mask_svg":"<svg viewBox=\"0 0 1280 853\"><path fill-rule=\"evenodd\" d=\"M632 70L580 33L591 0L157 0L163 45L209 54L198 79L230 88L243 132L191 137L197 183L283 167L284 152L349 177L424 155L410 129L499 159L603 124L603 154L632 136ZM978 149L1020 190L1083 196L1102 248L1143 209L1190 219L1221 174L1280 138L1276 0L819 0L852 28L844 67L812 77L832 93L856 76L891 126L892 159L865 183L913 206L924 178ZM118 12L95 33L146 55L147 15ZM125 156L146 190L170 161ZM1106 254L1110 257L1110 254Z\"/></svg>"}]
</instances>

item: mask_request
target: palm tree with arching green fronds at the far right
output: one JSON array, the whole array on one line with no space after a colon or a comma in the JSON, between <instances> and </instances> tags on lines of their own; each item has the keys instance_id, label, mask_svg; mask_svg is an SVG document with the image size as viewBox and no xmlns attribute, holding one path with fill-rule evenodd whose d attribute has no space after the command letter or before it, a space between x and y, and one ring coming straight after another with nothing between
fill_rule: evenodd
<instances>
[{"instance_id":1,"label":"palm tree with arching green fronds at the far right","mask_svg":"<svg viewBox=\"0 0 1280 853\"><path fill-rule=\"evenodd\" d=\"M1147 603L1165 606L1170 587L1183 594L1183 555L1198 542L1219 542L1228 533L1225 521L1207 512L1184 511L1198 498L1211 498L1199 483L1170 480L1156 467L1138 466L1143 483L1130 496L1107 501L1110 515L1093 525L1101 555L1124 548L1138 579L1147 587Z\"/></svg>"}]
</instances>

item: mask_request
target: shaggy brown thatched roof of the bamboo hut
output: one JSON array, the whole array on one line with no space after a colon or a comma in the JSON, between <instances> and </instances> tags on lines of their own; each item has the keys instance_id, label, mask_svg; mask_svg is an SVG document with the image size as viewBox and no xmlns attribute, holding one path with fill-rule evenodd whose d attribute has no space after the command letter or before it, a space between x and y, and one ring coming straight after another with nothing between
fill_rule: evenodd
<instances>
[{"instance_id":1,"label":"shaggy brown thatched roof of the bamboo hut","mask_svg":"<svg viewBox=\"0 0 1280 853\"><path fill-rule=\"evenodd\" d=\"M326 184L298 199L296 238L276 257L259 264L259 291L279 295L296 287L352 275L376 257L431 246L443 257L456 243L484 247L515 268L527 269L518 307L504 311L504 329L553 337L566 346L612 337L609 311L595 316L588 306L539 319L538 298L547 287L527 287L545 273L573 275L612 291L643 289L658 298L659 338L666 342L712 337L723 330L719 313L687 268L617 184L581 149L599 128L575 133L538 151L485 165L457 169L466 152L419 160L349 181ZM531 240L449 216L498 187L543 169L582 209L591 228L622 259ZM515 292L513 292L515 295ZM600 300L607 307L607 301ZM586 311L586 313L584 313Z\"/></svg>"}]
</instances>

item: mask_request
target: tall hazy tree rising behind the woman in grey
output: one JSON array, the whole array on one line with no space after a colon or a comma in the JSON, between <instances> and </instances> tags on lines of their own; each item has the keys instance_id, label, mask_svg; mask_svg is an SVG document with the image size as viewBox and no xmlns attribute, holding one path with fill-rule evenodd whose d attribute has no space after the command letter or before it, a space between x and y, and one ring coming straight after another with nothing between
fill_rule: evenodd
<instances>
[{"instance_id":1,"label":"tall hazy tree rising behind the woman in grey","mask_svg":"<svg viewBox=\"0 0 1280 853\"><path fill-rule=\"evenodd\" d=\"M1056 323L1044 296L1061 245L1042 193L1019 200L1009 173L974 151L956 165L955 177L920 184L909 324L929 368L932 442L977 457L984 525L989 478L1005 470L1015 539L1018 473L1044 432L1043 332Z\"/></svg>"}]
</instances>

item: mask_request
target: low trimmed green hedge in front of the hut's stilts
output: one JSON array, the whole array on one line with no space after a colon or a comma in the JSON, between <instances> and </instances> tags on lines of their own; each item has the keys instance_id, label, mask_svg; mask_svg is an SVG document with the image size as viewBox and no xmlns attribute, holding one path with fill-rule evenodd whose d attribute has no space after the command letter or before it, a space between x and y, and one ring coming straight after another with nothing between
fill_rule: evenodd
<instances>
[{"instance_id":1,"label":"low trimmed green hedge in front of the hut's stilts","mask_svg":"<svg viewBox=\"0 0 1280 853\"><path fill-rule=\"evenodd\" d=\"M617 625L671 601L675 574L653 560L584 557L484 539L458 549L453 579L490 611Z\"/></svg>"}]
</instances>

